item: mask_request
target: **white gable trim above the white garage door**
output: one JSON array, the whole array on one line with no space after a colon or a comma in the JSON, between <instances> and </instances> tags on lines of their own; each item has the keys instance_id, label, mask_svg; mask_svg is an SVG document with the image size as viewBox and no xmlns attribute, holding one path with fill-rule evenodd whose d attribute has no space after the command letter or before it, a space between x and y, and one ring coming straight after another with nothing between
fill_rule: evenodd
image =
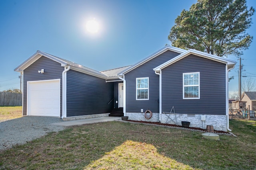
<instances>
[{"instance_id":1,"label":"white gable trim above the white garage door","mask_svg":"<svg viewBox=\"0 0 256 170\"><path fill-rule=\"evenodd\" d=\"M47 57L49 59L52 59L53 61L56 61L61 64L61 66L66 66L67 63L60 60L56 59L55 57L48 55L46 53L43 53L42 51L36 51L31 57L29 57L26 61L24 61L22 64L20 64L18 67L14 69L14 71L22 72L24 69L26 69L28 66L33 64L35 61L37 61L40 57Z\"/></svg>"}]
</instances>

